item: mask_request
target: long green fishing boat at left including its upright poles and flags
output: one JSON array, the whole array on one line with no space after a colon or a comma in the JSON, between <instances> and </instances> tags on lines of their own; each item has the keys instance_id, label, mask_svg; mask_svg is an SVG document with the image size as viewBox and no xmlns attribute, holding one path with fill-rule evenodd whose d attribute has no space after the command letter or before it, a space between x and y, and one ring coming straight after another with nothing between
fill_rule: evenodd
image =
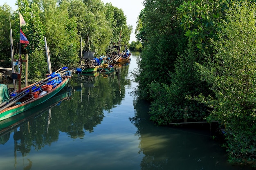
<instances>
[{"instance_id":1,"label":"long green fishing boat at left including its upright poles and flags","mask_svg":"<svg viewBox=\"0 0 256 170\"><path fill-rule=\"evenodd\" d=\"M24 18L20 15L20 49L21 43L27 46L29 41L25 34L21 30L21 26L26 25ZM66 84L69 82L72 71L70 71L67 67L63 67L58 69L56 72L52 73L52 67L49 57L49 49L47 46L46 38L45 38L45 49L47 55L47 63L49 74L47 77L39 82L31 84L21 88L21 75L22 75L22 62L27 62L27 60L22 60L21 50L19 51L19 59L14 60L13 58L13 42L12 42L12 33L10 30L10 40L11 40L11 59L12 66L14 63L18 65L18 72L15 72L15 68L13 68L13 73L11 74L11 78L13 80L19 80L18 90L14 90L13 93L9 93L8 86L5 84L0 84L0 121L7 119L9 117L13 117L22 113L30 108L38 106L42 104L49 98L53 97L56 93L58 93ZM27 73L25 75L27 78ZM16 84L13 82L13 86Z\"/></svg>"}]
</instances>

